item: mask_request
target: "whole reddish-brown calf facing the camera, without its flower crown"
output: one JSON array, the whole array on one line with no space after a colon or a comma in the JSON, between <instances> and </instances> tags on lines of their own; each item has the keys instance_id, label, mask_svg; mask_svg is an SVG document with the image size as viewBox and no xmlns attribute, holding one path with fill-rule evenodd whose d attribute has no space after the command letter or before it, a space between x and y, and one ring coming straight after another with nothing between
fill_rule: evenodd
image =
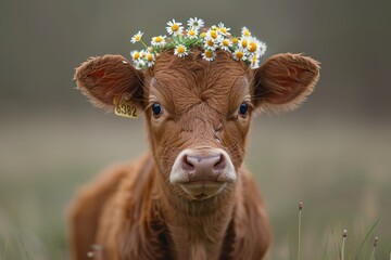
<instances>
[{"instance_id":1,"label":"whole reddish-brown calf facing the camera, without its flower crown","mask_svg":"<svg viewBox=\"0 0 391 260\"><path fill-rule=\"evenodd\" d=\"M270 234L242 166L254 112L289 110L313 91L318 63L278 54L257 69L217 51L206 62L160 54L136 70L119 55L92 57L75 74L93 104L128 99L143 110L150 154L108 170L71 209L75 259L263 259Z\"/></svg>"}]
</instances>

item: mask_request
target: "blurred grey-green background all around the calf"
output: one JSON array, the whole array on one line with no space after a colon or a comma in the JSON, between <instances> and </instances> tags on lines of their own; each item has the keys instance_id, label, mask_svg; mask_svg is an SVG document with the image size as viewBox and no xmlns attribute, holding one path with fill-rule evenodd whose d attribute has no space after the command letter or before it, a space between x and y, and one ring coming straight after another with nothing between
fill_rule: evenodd
<instances>
[{"instance_id":1,"label":"blurred grey-green background all around the calf","mask_svg":"<svg viewBox=\"0 0 391 260\"><path fill-rule=\"evenodd\" d=\"M338 259L343 229L350 257L369 259L379 236L377 259L388 259L390 10L390 1L362 0L1 0L0 259L67 259L76 191L148 148L143 119L92 107L74 89L74 68L92 55L130 58L135 32L150 39L169 20L193 16L237 34L248 26L267 43L265 58L295 52L321 62L301 108L260 115L252 127L247 165L270 218L270 258L295 259L302 200L303 259Z\"/></svg>"}]
</instances>

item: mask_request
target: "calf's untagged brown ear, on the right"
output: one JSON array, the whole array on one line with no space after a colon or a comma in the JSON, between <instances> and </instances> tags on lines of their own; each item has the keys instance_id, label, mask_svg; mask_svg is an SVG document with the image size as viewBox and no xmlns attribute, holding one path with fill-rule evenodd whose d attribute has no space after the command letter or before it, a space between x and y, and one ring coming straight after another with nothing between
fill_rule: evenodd
<instances>
[{"instance_id":1,"label":"calf's untagged brown ear, on the right","mask_svg":"<svg viewBox=\"0 0 391 260\"><path fill-rule=\"evenodd\" d=\"M301 54L277 54L254 72L253 104L265 112L294 109L313 91L319 63Z\"/></svg>"}]
</instances>

